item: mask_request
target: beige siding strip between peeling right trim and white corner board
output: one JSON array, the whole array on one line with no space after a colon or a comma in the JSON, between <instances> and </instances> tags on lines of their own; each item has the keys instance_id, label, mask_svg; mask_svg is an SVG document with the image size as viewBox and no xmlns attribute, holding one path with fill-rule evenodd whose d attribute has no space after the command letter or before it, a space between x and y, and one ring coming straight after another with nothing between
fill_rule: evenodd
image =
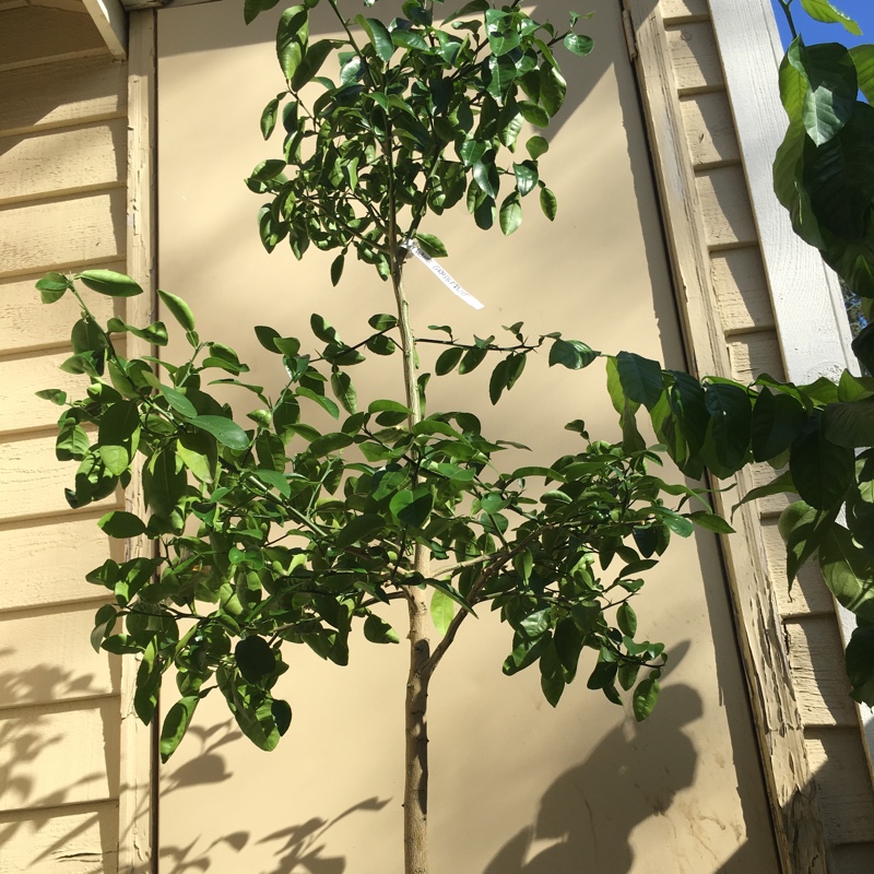
<instances>
[{"instance_id":1,"label":"beige siding strip between peeling right trim and white corner board","mask_svg":"<svg viewBox=\"0 0 874 874\"><path fill-rule=\"evenodd\" d=\"M673 67L675 106L680 110L676 135L685 141L690 157L702 231L702 259L709 268L714 327L722 338L721 349L701 358L710 358L708 363L716 365L714 374L739 380L753 379L763 373L784 378L768 281L708 3L662 0L660 12ZM696 342L695 330L689 333L693 352L696 347L700 350L700 336ZM770 468L763 465L746 484L742 481L741 487L748 488L770 479ZM798 725L816 800L811 806L805 805L806 812L802 814L793 810L793 804L786 804L786 796L780 799L790 834L792 827L804 828L802 819L810 816L815 805L822 818L828 871L861 874L874 867L874 789L859 711L849 698L835 604L818 571L805 568L789 590L786 551L777 531L777 518L787 504L786 497L758 501L757 511L751 512L754 528L748 538L748 554L732 548L734 555L730 555L730 562L752 559L758 566L758 584L776 607L773 619L767 618L767 609L763 612L765 625L759 630L770 625L778 633L767 636L767 646L772 647L768 658L788 663L796 702L794 708L782 711L789 720L779 724L768 720L766 701L763 720L766 757L770 755L771 767L778 771L784 767L789 758L779 753L775 758L773 741L778 734L791 736ZM742 591L739 594L743 597ZM741 606L742 624L744 610L748 607L748 603ZM761 639L751 642L759 653L767 649ZM755 684L755 670L753 674ZM764 696L768 697L767 688ZM793 755L799 753L801 749L795 745ZM776 788L782 782L788 789L784 777L777 775ZM795 779L800 790L806 792L804 773L795 773ZM806 870L803 865L799 867L798 858L794 862L795 870Z\"/></svg>"}]
</instances>

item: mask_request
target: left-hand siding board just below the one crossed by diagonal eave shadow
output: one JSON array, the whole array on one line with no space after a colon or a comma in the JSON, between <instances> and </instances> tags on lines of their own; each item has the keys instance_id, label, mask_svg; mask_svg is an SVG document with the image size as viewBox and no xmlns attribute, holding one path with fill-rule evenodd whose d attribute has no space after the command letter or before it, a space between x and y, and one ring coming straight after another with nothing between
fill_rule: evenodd
<instances>
[{"instance_id":1,"label":"left-hand siding board just below the one crossed by diagonal eave shadow","mask_svg":"<svg viewBox=\"0 0 874 874\"><path fill-rule=\"evenodd\" d=\"M0 203L123 184L127 121L0 139Z\"/></svg>"}]
</instances>

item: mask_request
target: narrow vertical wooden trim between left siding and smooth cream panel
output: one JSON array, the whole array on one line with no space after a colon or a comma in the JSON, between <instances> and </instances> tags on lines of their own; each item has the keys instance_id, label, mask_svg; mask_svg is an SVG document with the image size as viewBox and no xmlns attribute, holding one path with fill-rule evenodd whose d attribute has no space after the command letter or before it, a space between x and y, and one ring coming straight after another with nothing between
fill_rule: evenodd
<instances>
[{"instance_id":1,"label":"narrow vertical wooden trim between left siding and smooth cream panel","mask_svg":"<svg viewBox=\"0 0 874 874\"><path fill-rule=\"evenodd\" d=\"M128 69L128 273L142 285L144 294L130 298L127 317L131 324L149 324L155 315L155 106L156 106L155 13L130 15ZM131 338L130 357L154 354L142 340ZM130 512L143 516L145 508L138 468L125 493ZM127 557L152 554L146 539L128 541ZM119 794L119 871L147 874L153 870L153 733L133 710L139 664L125 659L121 672L121 786Z\"/></svg>"}]
</instances>

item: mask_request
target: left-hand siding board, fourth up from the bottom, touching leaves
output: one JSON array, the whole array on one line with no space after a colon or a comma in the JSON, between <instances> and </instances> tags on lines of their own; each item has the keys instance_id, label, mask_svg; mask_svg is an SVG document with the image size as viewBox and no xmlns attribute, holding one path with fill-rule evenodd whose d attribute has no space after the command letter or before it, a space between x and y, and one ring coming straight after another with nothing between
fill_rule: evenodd
<instances>
[{"instance_id":1,"label":"left-hand siding board, fourth up from the bottom, touching leaves","mask_svg":"<svg viewBox=\"0 0 874 874\"><path fill-rule=\"evenodd\" d=\"M101 592L85 582L85 574L108 557L125 560L125 542L97 528L101 515L96 510L60 522L0 527L0 611L85 601Z\"/></svg>"}]
</instances>

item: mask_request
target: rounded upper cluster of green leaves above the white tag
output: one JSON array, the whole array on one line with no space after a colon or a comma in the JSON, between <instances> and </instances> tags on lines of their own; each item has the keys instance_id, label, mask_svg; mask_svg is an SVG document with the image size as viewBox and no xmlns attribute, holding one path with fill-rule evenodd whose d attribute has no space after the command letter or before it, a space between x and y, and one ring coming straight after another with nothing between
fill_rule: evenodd
<instances>
[{"instance_id":1,"label":"rounded upper cluster of green leaves above the white tag","mask_svg":"<svg viewBox=\"0 0 874 874\"><path fill-rule=\"evenodd\" d=\"M259 213L261 240L272 251L287 239L295 257L312 245L340 249L331 270L336 284L353 249L388 279L408 239L433 257L446 247L420 233L428 212L441 214L462 200L481 228L497 223L512 234L522 200L539 190L552 221L555 194L540 178L548 149L541 135L525 140L525 122L545 128L567 92L553 54L556 44L584 56L592 40L559 33L518 3L497 8L472 0L442 24L434 4L408 0L388 24L363 14L345 19L344 36L310 40L309 12L319 0L287 9L276 32L276 56L287 90L261 116L269 138L284 132L282 158L260 163L247 179L270 194ZM247 16L275 3L247 3ZM339 75L322 68L335 58Z\"/></svg>"}]
</instances>

